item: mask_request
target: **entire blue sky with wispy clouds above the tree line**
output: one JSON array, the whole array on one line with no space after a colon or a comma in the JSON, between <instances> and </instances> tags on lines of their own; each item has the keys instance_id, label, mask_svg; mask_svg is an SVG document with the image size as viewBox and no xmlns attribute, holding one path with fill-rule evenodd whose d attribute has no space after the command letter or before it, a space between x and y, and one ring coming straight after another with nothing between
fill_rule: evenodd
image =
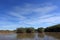
<instances>
[{"instance_id":1,"label":"entire blue sky with wispy clouds above the tree line","mask_svg":"<svg viewBox=\"0 0 60 40\"><path fill-rule=\"evenodd\" d=\"M0 30L60 24L60 0L0 0Z\"/></svg>"}]
</instances>

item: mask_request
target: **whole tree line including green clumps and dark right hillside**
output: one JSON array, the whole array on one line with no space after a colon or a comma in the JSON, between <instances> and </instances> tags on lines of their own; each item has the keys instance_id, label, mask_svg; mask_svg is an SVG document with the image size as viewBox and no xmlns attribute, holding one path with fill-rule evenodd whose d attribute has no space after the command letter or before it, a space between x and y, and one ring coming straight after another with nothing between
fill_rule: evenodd
<instances>
[{"instance_id":1,"label":"whole tree line including green clumps and dark right hillside","mask_svg":"<svg viewBox=\"0 0 60 40\"><path fill-rule=\"evenodd\" d=\"M50 26L47 28L43 28L40 27L38 29L34 29L34 28L17 28L16 29L16 33L34 33L34 32L60 32L60 24L58 25L54 25L54 26Z\"/></svg>"}]
</instances>

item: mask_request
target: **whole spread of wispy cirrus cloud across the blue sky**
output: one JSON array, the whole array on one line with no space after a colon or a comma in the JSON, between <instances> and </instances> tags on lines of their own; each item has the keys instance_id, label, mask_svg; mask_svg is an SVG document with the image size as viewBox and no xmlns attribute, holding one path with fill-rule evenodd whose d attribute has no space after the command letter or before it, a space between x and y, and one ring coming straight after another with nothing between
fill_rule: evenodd
<instances>
[{"instance_id":1,"label":"whole spread of wispy cirrus cloud across the blue sky","mask_svg":"<svg viewBox=\"0 0 60 40\"><path fill-rule=\"evenodd\" d=\"M30 27L38 28L40 26L50 26L60 23L59 13L54 13L58 9L58 6L49 3L46 4L25 4L23 7L14 6L7 12L7 17L3 17L6 26L11 27ZM2 19L2 18L1 18ZM4 22L2 22L4 23ZM12 23L12 24L11 24ZM8 25L7 25L8 24ZM5 27L6 27L5 26ZM10 27L9 26L9 27ZM37 26L37 27L36 27Z\"/></svg>"}]
</instances>

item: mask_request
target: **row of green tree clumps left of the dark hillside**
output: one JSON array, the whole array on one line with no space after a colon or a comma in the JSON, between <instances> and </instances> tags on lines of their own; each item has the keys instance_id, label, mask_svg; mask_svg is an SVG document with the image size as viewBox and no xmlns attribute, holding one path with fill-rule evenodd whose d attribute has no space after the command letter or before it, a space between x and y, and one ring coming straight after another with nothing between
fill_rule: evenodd
<instances>
[{"instance_id":1,"label":"row of green tree clumps left of the dark hillside","mask_svg":"<svg viewBox=\"0 0 60 40\"><path fill-rule=\"evenodd\" d=\"M34 29L34 28L17 28L16 33L41 33L43 32L44 28L38 28L38 29Z\"/></svg>"}]
</instances>

